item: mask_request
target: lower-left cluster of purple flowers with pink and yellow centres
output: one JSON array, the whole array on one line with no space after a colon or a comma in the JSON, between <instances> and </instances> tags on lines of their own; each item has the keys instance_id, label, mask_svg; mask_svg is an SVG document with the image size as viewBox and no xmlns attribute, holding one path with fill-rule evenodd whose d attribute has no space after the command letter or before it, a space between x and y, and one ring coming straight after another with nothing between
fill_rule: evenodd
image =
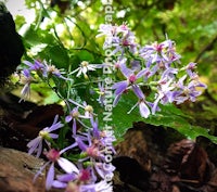
<instances>
[{"instance_id":1,"label":"lower-left cluster of purple flowers with pink and yellow centres","mask_svg":"<svg viewBox=\"0 0 217 192\"><path fill-rule=\"evenodd\" d=\"M106 163L105 155L107 151L111 154L115 153L112 145L115 138L114 136L108 136L106 131L100 130L98 121L94 120L91 114L88 116L87 114L78 115L78 107L79 104L65 117L65 123L73 121L72 143L67 146L62 150L56 149L55 140L59 138L59 135L53 131L64 127L64 124L58 121L58 116L54 118L51 127L40 130L38 137L27 144L28 153L36 153L37 157L41 155L42 149L48 149L48 151L43 152L48 162L36 174L35 180L50 165L46 180L47 190L54 187L76 192L112 191L112 185L107 181L111 181L115 167L111 163ZM81 121L82 118L88 118L91 125L90 127L86 126L86 132L80 132L77 128L77 120ZM43 141L47 146L42 146ZM79 158L77 161L71 162L66 157L62 157L64 154L75 154L78 152ZM55 164L65 172L58 175L56 178Z\"/></svg>"}]
</instances>

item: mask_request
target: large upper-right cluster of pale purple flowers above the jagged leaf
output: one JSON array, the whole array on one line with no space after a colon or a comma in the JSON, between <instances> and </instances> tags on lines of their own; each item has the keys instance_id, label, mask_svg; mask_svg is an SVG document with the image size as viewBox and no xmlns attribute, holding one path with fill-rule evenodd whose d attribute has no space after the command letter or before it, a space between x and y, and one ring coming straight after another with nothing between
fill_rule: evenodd
<instances>
[{"instance_id":1,"label":"large upper-right cluster of pale purple flowers above the jagged leaf","mask_svg":"<svg viewBox=\"0 0 217 192\"><path fill-rule=\"evenodd\" d=\"M181 56L170 39L142 47L136 43L135 35L126 24L101 25L99 33L99 36L105 36L104 49L107 44L112 47L116 57L114 67L124 78L113 86L114 105L124 93L132 90L138 102L129 113L139 106L141 116L146 118L161 110L159 103L194 102L206 88L195 72L196 63L182 66ZM154 97L149 97L142 87L151 89Z\"/></svg>"}]
</instances>

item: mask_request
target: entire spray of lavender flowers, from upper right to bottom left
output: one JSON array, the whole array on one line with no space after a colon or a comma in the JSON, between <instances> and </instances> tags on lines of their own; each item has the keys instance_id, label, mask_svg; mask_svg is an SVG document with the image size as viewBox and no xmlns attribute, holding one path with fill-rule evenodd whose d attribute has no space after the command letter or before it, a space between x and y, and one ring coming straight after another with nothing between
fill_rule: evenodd
<instances>
[{"instance_id":1,"label":"entire spray of lavender flowers, from upper right to bottom left","mask_svg":"<svg viewBox=\"0 0 217 192\"><path fill-rule=\"evenodd\" d=\"M111 86L114 90L113 105L117 105L123 94L131 91L137 100L128 113L138 107L144 118L161 111L161 104L194 102L202 93L202 89L206 88L195 72L196 63L181 65L181 56L176 52L176 44L168 38L161 43L154 42L142 47L137 43L133 33L126 24L101 25L98 37L105 36L103 49L110 48L115 60L115 63L111 63L110 66L107 63L90 64L82 61L65 77L66 73L46 62L36 60L34 63L24 62L27 68L23 69L24 88L21 100L29 97L30 85L37 81L37 78L46 82L58 78L59 87L54 85L56 89L63 89L62 81L71 82L66 86L67 95L61 95L66 104L65 116L62 119L55 116L53 124L40 130L38 137L27 144L29 154L35 154L37 157L43 154L48 159L35 176L36 180L49 166L47 190L54 187L65 189L67 192L112 191L110 181L115 167L111 163L110 155L115 154L113 146L115 137L111 131L99 128L98 117L95 117L98 114L93 113L93 107L86 101L81 101L82 97L76 95L76 90L72 91L73 86L79 89L80 85L85 85L86 89L87 80L88 84L93 85L94 79L89 78L89 72L105 66L113 67L118 74L114 77L116 82ZM81 78L78 77L81 76L85 82L79 81ZM79 79L77 86L74 85L76 78ZM94 81L98 88L90 87L90 89L92 93L99 94L97 101L103 106L106 104L107 88L106 84L99 79L98 77ZM55 80L53 81L55 84ZM58 93L61 92L63 91ZM60 132L63 136L66 132L67 139L60 139ZM55 165L61 175L56 175Z\"/></svg>"}]
</instances>

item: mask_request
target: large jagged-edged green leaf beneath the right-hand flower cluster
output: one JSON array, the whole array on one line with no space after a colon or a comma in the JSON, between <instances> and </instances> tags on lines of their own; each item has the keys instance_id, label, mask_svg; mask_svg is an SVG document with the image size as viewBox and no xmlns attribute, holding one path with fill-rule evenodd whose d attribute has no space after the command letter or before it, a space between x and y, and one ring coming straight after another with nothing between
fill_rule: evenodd
<instances>
[{"instance_id":1,"label":"large jagged-edged green leaf beneath the right-hand flower cluster","mask_svg":"<svg viewBox=\"0 0 217 192\"><path fill-rule=\"evenodd\" d=\"M117 106L113 108L114 133L117 140L132 127L133 121L144 121L153 126L163 126L176 129L188 139L194 140L196 137L203 136L210 139L214 143L217 143L217 137L210 136L208 133L209 130L206 128L191 125L188 121L190 117L173 104L161 105L161 112L156 112L155 115L151 115L149 118L142 118L138 107L136 107L130 114L127 114L136 102L137 101L133 101L130 95L125 95L120 99Z\"/></svg>"}]
</instances>

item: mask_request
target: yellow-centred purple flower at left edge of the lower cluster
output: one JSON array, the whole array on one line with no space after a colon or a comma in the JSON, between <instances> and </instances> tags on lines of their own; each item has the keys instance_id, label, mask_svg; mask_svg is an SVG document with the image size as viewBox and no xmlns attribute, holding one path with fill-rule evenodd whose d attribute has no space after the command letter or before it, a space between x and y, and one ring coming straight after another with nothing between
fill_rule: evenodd
<instances>
[{"instance_id":1,"label":"yellow-centred purple flower at left edge of the lower cluster","mask_svg":"<svg viewBox=\"0 0 217 192\"><path fill-rule=\"evenodd\" d=\"M63 124L58 121L58 118L59 116L56 115L51 127L43 128L37 138L27 143L28 154L36 153L36 156L39 157L42 152L42 141L44 140L46 143L49 144L51 139L58 139L59 135L51 133L52 131L63 127Z\"/></svg>"}]
</instances>

